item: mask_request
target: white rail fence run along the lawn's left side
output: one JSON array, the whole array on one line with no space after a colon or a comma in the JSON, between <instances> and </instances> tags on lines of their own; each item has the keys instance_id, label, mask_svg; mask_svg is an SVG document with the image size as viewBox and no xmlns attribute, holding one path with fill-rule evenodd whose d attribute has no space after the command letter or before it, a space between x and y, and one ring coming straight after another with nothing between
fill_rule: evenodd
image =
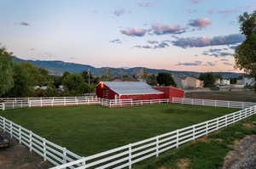
<instances>
[{"instance_id":1,"label":"white rail fence run along the lawn's left side","mask_svg":"<svg viewBox=\"0 0 256 169\"><path fill-rule=\"evenodd\" d=\"M55 166L82 158L2 116L0 116L0 128L4 132L8 132L11 138L16 138L20 144L25 144L30 151L42 156L44 161L49 161ZM70 168L73 167L71 166Z\"/></svg>"}]
</instances>

